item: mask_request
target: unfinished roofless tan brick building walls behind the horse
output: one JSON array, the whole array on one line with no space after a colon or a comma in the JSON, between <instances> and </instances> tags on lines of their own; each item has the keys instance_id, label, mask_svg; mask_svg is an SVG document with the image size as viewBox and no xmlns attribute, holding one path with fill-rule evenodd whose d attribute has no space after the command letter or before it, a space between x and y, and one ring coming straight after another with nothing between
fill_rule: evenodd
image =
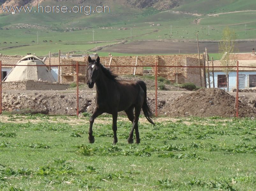
<instances>
[{"instance_id":1,"label":"unfinished roofless tan brick building walls behind the horse","mask_svg":"<svg viewBox=\"0 0 256 191\"><path fill-rule=\"evenodd\" d=\"M172 68L167 67L158 67L158 76L163 76L172 82L176 82L176 78L178 78L179 83L183 82L193 82L197 86L200 86L200 77L199 77L199 69L198 68L182 68L175 67L176 62L177 66L198 66L198 55L197 54L189 54L189 55L160 55L160 56L138 56L137 58L137 67L135 67L137 56L112 56L112 60L110 63L110 56L102 56L100 57L100 62L105 66L111 68L114 74L124 75L124 74L133 74L135 68L136 75L143 75L143 67L139 66L149 66L157 63L158 66L174 66ZM74 57L72 59L62 59L62 82L70 83L75 82L75 76L63 76L63 74L75 74L75 68L65 67L65 65L76 64L74 60L83 60L84 62L80 62L79 64L87 65L87 57ZM203 66L203 56L200 55L200 64ZM128 65L130 67L115 67L115 66ZM144 67L145 68L145 67ZM151 67L152 72L155 73L155 67ZM86 66L79 69L79 73L85 75ZM178 73L178 75L176 75ZM79 77L80 78L80 77ZM79 79L80 80L80 79ZM202 85L204 86L204 78L203 78L203 69L201 69L201 80Z\"/></svg>"}]
</instances>

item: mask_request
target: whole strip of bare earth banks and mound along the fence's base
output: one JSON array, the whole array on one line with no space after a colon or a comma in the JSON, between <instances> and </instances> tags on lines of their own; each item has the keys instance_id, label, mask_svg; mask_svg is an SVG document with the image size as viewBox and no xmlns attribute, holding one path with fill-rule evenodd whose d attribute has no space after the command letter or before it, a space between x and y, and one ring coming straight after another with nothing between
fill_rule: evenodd
<instances>
[{"instance_id":1,"label":"whole strip of bare earth banks and mound along the fence's base","mask_svg":"<svg viewBox=\"0 0 256 191\"><path fill-rule=\"evenodd\" d=\"M148 91L150 108L155 112L155 91ZM231 94L231 95L230 95ZM221 89L197 91L158 91L158 115L179 116L235 116L235 92ZM79 113L92 113L95 108L95 89L79 91ZM255 93L239 92L239 116L255 117ZM3 110L14 113L43 113L51 115L76 115L76 94L68 91L4 91ZM124 114L124 112L121 112Z\"/></svg>"}]
</instances>

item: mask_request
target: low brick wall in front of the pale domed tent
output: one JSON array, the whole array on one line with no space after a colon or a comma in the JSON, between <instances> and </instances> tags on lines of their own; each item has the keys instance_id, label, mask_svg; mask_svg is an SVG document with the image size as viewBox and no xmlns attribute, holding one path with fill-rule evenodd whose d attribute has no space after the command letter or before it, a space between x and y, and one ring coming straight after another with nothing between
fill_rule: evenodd
<instances>
[{"instance_id":1,"label":"low brick wall in front of the pale domed tent","mask_svg":"<svg viewBox=\"0 0 256 191\"><path fill-rule=\"evenodd\" d=\"M69 88L69 85L44 81L22 80L15 82L2 82L2 88L23 90L65 90Z\"/></svg>"}]
</instances>

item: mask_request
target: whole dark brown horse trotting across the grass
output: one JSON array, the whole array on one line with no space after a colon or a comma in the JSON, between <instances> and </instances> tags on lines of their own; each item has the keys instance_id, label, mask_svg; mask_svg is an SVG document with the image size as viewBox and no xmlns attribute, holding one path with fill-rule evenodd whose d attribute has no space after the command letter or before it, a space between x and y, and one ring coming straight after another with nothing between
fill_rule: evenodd
<instances>
[{"instance_id":1,"label":"whole dark brown horse trotting across the grass","mask_svg":"<svg viewBox=\"0 0 256 191\"><path fill-rule=\"evenodd\" d=\"M102 113L112 114L113 123L112 129L114 132L113 144L117 143L117 112L125 111L129 120L133 123L132 129L128 137L128 143L133 143L133 131L135 130L136 143L140 142L138 121L141 109L147 120L152 121L153 114L147 102L147 87L143 81L125 81L118 80L117 76L112 74L109 69L106 69L100 62L99 56L96 60L88 57L88 81L89 88L93 88L96 83L96 108L90 117L89 127L89 142L94 143L92 135L92 124L94 119ZM135 109L135 116L133 110Z\"/></svg>"}]
</instances>

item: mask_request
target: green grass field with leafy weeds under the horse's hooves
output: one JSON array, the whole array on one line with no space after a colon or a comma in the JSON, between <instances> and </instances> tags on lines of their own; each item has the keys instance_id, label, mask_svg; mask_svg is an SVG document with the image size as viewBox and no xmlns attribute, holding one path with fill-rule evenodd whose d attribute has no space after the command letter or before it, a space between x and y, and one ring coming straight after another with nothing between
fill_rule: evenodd
<instances>
[{"instance_id":1,"label":"green grass field with leafy weeds under the horse's hooves","mask_svg":"<svg viewBox=\"0 0 256 191\"><path fill-rule=\"evenodd\" d=\"M141 143L128 144L131 123L70 116L0 116L1 190L255 190L256 120L141 117Z\"/></svg>"}]
</instances>

